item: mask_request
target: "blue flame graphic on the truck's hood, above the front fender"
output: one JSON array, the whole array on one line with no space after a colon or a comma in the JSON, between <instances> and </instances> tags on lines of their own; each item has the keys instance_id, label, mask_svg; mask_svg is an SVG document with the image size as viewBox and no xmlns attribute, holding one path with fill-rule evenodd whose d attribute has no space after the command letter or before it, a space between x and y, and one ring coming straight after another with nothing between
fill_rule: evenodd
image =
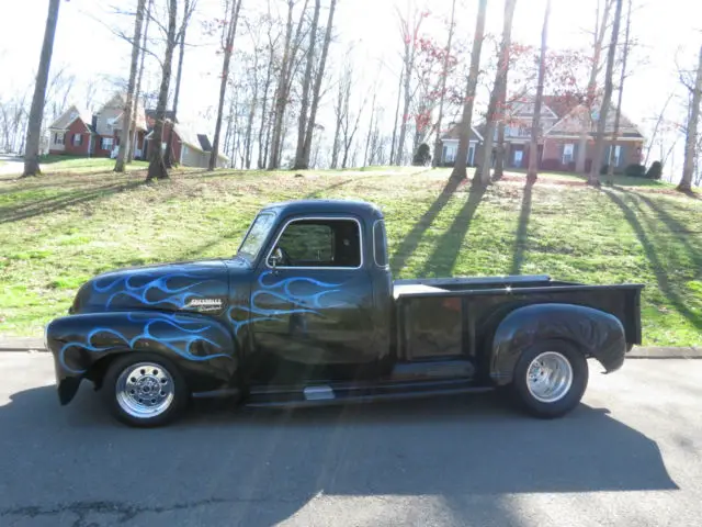
<instances>
[{"instance_id":1,"label":"blue flame graphic on the truck's hood, above the front fender","mask_svg":"<svg viewBox=\"0 0 702 527\"><path fill-rule=\"evenodd\" d=\"M145 280L151 278L141 285L133 285L134 280ZM196 280L180 288L169 285L169 281L186 279ZM136 300L143 305L160 306L172 305L176 309L182 309L191 299L202 299L203 294L196 291L199 285L204 283L220 284L218 280L208 279L203 273L193 272L189 268L173 268L173 272L161 274L158 272L143 272L138 274L128 274L120 278L104 277L93 282L93 291L101 294L110 294L104 305L110 307L115 299L124 296ZM160 292L166 296L160 300L149 300L149 293Z\"/></svg>"}]
</instances>

